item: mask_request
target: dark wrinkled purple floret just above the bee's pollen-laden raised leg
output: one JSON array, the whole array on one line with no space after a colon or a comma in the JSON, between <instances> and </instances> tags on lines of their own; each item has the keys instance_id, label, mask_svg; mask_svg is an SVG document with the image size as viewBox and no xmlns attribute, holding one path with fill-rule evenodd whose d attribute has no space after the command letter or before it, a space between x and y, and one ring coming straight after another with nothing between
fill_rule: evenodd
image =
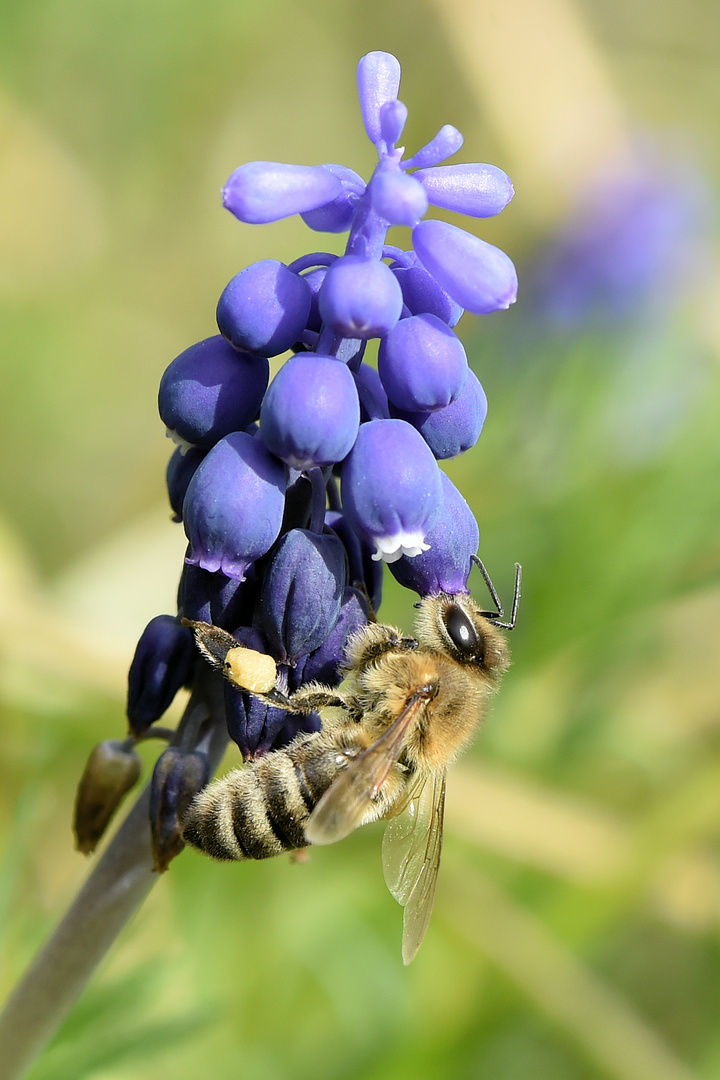
<instances>
[{"instance_id":1,"label":"dark wrinkled purple floret just above the bee's pollen-laden raised leg","mask_svg":"<svg viewBox=\"0 0 720 1080\"><path fill-rule=\"evenodd\" d=\"M294 666L323 644L338 621L347 575L338 537L307 529L285 534L266 570L259 603L276 660Z\"/></svg>"}]
</instances>

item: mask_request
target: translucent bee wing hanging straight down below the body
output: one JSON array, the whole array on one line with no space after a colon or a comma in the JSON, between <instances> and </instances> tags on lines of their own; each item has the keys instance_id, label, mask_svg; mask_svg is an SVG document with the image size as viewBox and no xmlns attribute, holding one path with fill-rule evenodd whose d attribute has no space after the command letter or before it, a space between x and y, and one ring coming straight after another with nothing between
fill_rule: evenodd
<instances>
[{"instance_id":1,"label":"translucent bee wing hanging straight down below the body","mask_svg":"<svg viewBox=\"0 0 720 1080\"><path fill-rule=\"evenodd\" d=\"M403 813L391 819L382 838L385 883L405 908L405 963L409 963L420 948L433 913L444 816L445 772L441 772L425 778Z\"/></svg>"}]
</instances>

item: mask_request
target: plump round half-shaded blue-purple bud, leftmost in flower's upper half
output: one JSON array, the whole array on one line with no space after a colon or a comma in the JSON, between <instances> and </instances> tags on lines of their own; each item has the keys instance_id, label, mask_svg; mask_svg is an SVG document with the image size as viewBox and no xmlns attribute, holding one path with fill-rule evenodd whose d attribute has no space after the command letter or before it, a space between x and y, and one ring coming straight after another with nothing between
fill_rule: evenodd
<instances>
[{"instance_id":1,"label":"plump round half-shaded blue-purple bud, leftmost in flower's upper half","mask_svg":"<svg viewBox=\"0 0 720 1080\"><path fill-rule=\"evenodd\" d=\"M209 449L257 416L269 378L264 356L233 349L223 337L176 356L160 380L158 406L168 432Z\"/></svg>"}]
</instances>

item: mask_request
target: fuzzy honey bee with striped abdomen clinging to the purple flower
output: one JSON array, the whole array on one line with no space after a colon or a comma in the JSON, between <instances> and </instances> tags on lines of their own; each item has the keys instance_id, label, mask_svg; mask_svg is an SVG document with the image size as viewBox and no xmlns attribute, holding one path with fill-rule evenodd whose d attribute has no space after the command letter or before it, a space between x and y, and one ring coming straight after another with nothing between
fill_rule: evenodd
<instances>
[{"instance_id":1,"label":"fuzzy honey bee with striped abdomen clinging to the purple flower","mask_svg":"<svg viewBox=\"0 0 720 1080\"><path fill-rule=\"evenodd\" d=\"M208 623L189 623L201 652L236 686L290 712L324 716L322 731L299 734L195 796L184 838L215 859L267 859L335 843L388 819L382 862L388 888L405 908L405 963L433 908L447 768L475 735L510 662L500 631L515 625L520 567L503 622L488 572L474 562L497 610L480 610L468 594L439 593L416 605L415 637L370 622L348 642L338 689L310 683L286 697L268 658Z\"/></svg>"}]
</instances>

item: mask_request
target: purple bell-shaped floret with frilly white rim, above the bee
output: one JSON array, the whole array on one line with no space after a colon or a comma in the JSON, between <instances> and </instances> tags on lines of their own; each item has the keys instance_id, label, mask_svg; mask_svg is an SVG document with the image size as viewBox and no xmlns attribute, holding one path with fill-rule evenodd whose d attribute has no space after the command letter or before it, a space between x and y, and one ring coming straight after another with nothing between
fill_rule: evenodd
<instances>
[{"instance_id":1,"label":"purple bell-shaped floret with frilly white rim, above the bee","mask_svg":"<svg viewBox=\"0 0 720 1080\"><path fill-rule=\"evenodd\" d=\"M392 563L426 550L425 535L439 513L443 488L437 462L404 420L361 426L342 467L342 505L355 531Z\"/></svg>"}]
</instances>

